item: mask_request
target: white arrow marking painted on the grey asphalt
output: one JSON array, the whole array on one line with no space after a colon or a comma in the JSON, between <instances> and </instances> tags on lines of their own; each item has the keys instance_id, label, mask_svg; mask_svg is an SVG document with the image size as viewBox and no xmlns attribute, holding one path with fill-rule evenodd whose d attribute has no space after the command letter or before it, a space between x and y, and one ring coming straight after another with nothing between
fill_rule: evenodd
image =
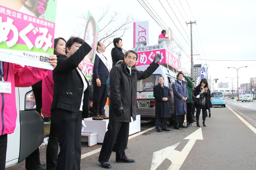
<instances>
[{"instance_id":1,"label":"white arrow marking painted on the grey asphalt","mask_svg":"<svg viewBox=\"0 0 256 170\"><path fill-rule=\"evenodd\" d=\"M194 146L196 140L203 140L202 129L199 128L192 134L188 135L184 139L189 139L188 143L184 146L182 151L174 150L179 144L176 143L172 146L168 146L164 149L155 151L153 153L153 159L151 163L151 170L157 169L159 165L167 158L172 161L172 165L168 168L168 170L179 170L185 159L187 158L189 152Z\"/></svg>"}]
</instances>

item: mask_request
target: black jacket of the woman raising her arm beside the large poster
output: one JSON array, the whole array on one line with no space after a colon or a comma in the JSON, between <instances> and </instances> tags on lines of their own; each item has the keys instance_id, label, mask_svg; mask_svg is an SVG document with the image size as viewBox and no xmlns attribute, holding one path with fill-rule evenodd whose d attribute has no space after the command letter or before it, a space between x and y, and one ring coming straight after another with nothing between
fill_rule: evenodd
<instances>
[{"instance_id":1,"label":"black jacket of the woman raising her arm beside the large poster","mask_svg":"<svg viewBox=\"0 0 256 170\"><path fill-rule=\"evenodd\" d=\"M62 108L72 112L80 109L83 95L83 80L76 69L78 64L91 51L87 43L83 43L79 49L70 57L65 55L57 56L57 66L53 70L53 100L52 109ZM83 97L83 118L88 116L89 83L84 91Z\"/></svg>"}]
</instances>

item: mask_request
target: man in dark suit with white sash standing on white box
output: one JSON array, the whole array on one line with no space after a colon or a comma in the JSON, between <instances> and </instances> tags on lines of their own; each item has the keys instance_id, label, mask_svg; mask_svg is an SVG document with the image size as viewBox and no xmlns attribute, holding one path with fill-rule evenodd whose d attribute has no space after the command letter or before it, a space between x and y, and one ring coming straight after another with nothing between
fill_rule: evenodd
<instances>
[{"instance_id":1,"label":"man in dark suit with white sash standing on white box","mask_svg":"<svg viewBox=\"0 0 256 170\"><path fill-rule=\"evenodd\" d=\"M93 67L93 120L109 119L104 110L108 98L106 82L110 71L108 60L103 55L105 48L105 45L98 41Z\"/></svg>"}]
</instances>

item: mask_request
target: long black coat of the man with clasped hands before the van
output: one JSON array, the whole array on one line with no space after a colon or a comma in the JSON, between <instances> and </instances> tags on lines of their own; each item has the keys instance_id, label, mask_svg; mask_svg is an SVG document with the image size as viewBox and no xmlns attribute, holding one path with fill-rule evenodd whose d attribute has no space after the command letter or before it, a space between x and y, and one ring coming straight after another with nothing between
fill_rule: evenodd
<instances>
[{"instance_id":1,"label":"long black coat of the man with clasped hands before the van","mask_svg":"<svg viewBox=\"0 0 256 170\"><path fill-rule=\"evenodd\" d=\"M166 86L158 84L154 86L155 97L155 117L156 118L170 118L170 103L171 99L170 89ZM168 98L167 101L163 101L162 98Z\"/></svg>"}]
</instances>

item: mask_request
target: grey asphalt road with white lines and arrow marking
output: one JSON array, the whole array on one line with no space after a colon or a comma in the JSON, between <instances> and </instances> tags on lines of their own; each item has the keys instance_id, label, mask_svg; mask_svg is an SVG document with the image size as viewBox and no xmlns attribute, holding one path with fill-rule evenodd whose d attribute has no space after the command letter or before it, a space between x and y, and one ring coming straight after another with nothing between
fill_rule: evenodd
<instances>
[{"instance_id":1,"label":"grey asphalt road with white lines and arrow marking","mask_svg":"<svg viewBox=\"0 0 256 170\"><path fill-rule=\"evenodd\" d=\"M256 126L252 124L256 119L255 110L256 102L227 100L225 108L211 109L207 127L196 127L193 123L186 129L174 130L169 126L171 131L161 133L155 131L153 121L141 122L142 132L130 136L125 150L128 158L136 162L116 163L114 152L109 162L112 169L123 170L255 169ZM101 144L88 147L82 142L81 170L103 169L97 161L100 147ZM46 147L40 148L42 162L45 162L45 150ZM25 170L25 161L7 170Z\"/></svg>"}]
</instances>

